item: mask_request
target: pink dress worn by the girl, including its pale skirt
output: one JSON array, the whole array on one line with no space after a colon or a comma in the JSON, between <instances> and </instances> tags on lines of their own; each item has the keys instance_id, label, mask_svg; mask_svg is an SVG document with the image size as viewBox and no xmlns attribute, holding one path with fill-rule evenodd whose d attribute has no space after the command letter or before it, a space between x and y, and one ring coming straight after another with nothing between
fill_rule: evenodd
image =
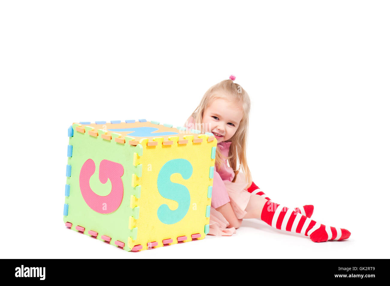
<instances>
[{"instance_id":1,"label":"pink dress worn by the girl, including its pale skirt","mask_svg":"<svg viewBox=\"0 0 390 286\"><path fill-rule=\"evenodd\" d=\"M185 127L188 128L193 123L193 118L188 119L188 124ZM217 144L217 148L220 149L224 156L229 155L229 148L232 142L223 141ZM227 166L227 160L223 160L221 168L217 171L217 165L214 167L213 178L213 191L211 194L211 210L210 210L210 231L211 235L232 235L236 233L234 227L227 228L229 222L223 217L222 213L216 210L216 208L223 206L230 202L234 213L238 219L245 216L245 208L249 202L250 193L247 191L245 175L242 172L237 174L236 181L232 183L234 178L233 169Z\"/></svg>"}]
</instances>

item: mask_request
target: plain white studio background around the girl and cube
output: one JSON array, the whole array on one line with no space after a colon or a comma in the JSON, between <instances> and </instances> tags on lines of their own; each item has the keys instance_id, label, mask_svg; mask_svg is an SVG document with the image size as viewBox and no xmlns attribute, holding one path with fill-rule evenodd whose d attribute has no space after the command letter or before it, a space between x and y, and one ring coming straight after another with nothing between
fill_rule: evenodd
<instances>
[{"instance_id":1,"label":"plain white studio background around the girl and cube","mask_svg":"<svg viewBox=\"0 0 390 286\"><path fill-rule=\"evenodd\" d=\"M2 1L2 258L389 258L387 1ZM67 128L183 125L236 75L255 183L343 242L245 220L230 237L126 252L64 226Z\"/></svg>"}]
</instances>

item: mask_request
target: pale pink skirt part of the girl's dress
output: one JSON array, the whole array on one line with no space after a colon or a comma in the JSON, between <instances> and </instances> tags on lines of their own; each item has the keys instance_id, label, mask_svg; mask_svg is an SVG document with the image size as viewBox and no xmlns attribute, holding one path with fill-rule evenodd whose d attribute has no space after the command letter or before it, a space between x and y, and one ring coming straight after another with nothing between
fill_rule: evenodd
<instances>
[{"instance_id":1,"label":"pale pink skirt part of the girl's dress","mask_svg":"<svg viewBox=\"0 0 390 286\"><path fill-rule=\"evenodd\" d=\"M225 184L227 194L230 198L230 205L236 217L238 219L243 218L246 215L245 208L250 197L250 193L246 190L248 183L246 182L244 173L239 172L234 183L229 181L223 181L223 183ZM229 226L229 222L223 217L222 213L211 207L209 234L221 236L236 233L234 227L227 228L227 226Z\"/></svg>"}]
</instances>

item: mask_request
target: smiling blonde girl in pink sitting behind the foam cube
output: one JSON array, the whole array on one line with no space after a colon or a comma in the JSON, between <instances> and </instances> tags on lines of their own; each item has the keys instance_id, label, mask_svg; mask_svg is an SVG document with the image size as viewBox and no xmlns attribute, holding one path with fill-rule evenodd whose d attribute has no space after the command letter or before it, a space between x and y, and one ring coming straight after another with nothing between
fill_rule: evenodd
<instances>
[{"instance_id":1,"label":"smiling blonde girl in pink sitting behind the foam cube","mask_svg":"<svg viewBox=\"0 0 390 286\"><path fill-rule=\"evenodd\" d=\"M349 238L351 233L346 229L310 219L313 206L286 208L259 192L246 161L250 99L234 80L235 77L230 76L229 80L210 87L184 125L187 130L212 133L218 142L209 234L231 235L243 218L260 218L277 229L305 234L313 242ZM240 169L243 172L239 172Z\"/></svg>"}]
</instances>

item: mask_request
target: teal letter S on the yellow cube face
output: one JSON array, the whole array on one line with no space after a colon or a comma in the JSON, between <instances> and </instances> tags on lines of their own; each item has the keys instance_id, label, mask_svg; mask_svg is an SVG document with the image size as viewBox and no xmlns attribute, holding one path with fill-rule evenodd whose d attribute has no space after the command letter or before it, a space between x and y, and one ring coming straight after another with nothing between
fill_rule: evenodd
<instances>
[{"instance_id":1,"label":"teal letter S on the yellow cube face","mask_svg":"<svg viewBox=\"0 0 390 286\"><path fill-rule=\"evenodd\" d=\"M167 204L162 204L157 210L157 217L163 224L176 224L181 221L190 208L190 192L181 184L172 183L170 176L179 173L187 180L192 175L192 165L185 159L170 160L161 167L157 178L158 192L165 199L177 201L179 206L171 210Z\"/></svg>"}]
</instances>

